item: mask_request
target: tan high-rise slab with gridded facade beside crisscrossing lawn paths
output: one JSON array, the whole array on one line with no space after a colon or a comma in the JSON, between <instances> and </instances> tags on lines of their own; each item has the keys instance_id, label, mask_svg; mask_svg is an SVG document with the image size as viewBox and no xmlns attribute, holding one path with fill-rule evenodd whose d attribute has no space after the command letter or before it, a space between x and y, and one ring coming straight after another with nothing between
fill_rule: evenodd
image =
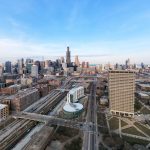
<instances>
[{"instance_id":1,"label":"tan high-rise slab with gridded facade beside crisscrossing lawn paths","mask_svg":"<svg viewBox=\"0 0 150 150\"><path fill-rule=\"evenodd\" d=\"M109 104L112 114L134 116L134 92L134 72L109 72Z\"/></svg>"}]
</instances>

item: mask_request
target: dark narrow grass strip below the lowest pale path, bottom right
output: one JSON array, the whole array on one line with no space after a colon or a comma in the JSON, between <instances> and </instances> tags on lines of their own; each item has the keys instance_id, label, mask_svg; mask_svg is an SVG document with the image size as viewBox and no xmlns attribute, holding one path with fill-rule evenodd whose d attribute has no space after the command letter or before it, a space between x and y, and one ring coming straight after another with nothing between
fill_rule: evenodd
<instances>
[{"instance_id":1,"label":"dark narrow grass strip below the lowest pale path, bottom right","mask_svg":"<svg viewBox=\"0 0 150 150\"><path fill-rule=\"evenodd\" d=\"M122 138L123 138L124 141L130 143L131 145L140 144L140 145L145 145L146 146L147 144L149 144L148 141L144 141L144 140L129 137L129 136L122 135Z\"/></svg>"}]
</instances>

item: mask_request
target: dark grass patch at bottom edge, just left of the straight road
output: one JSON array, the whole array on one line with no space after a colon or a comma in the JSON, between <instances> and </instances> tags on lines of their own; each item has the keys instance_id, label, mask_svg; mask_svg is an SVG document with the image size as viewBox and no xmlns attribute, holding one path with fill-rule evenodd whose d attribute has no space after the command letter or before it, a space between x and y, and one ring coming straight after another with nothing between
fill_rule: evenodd
<instances>
[{"instance_id":1,"label":"dark grass patch at bottom edge, just left of the straight road","mask_svg":"<svg viewBox=\"0 0 150 150\"><path fill-rule=\"evenodd\" d=\"M70 144L64 146L64 150L81 150L82 149L82 139L79 137L73 140Z\"/></svg>"}]
</instances>

